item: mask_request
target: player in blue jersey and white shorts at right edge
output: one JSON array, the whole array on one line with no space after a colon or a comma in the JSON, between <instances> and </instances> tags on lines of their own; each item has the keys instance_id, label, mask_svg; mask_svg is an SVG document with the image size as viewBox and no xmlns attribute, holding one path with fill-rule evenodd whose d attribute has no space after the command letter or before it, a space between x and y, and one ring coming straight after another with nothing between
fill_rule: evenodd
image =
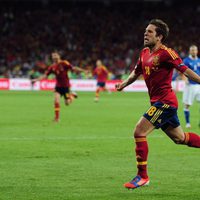
<instances>
[{"instance_id":1,"label":"player in blue jersey and white shorts at right edge","mask_svg":"<svg viewBox=\"0 0 200 200\"><path fill-rule=\"evenodd\" d=\"M196 45L191 45L189 49L189 56L183 62L191 70L200 75L200 58L198 58L198 48ZM183 91L184 114L186 120L186 128L190 128L190 110L194 99L200 102L200 85L192 80L186 79L185 89Z\"/></svg>"}]
</instances>

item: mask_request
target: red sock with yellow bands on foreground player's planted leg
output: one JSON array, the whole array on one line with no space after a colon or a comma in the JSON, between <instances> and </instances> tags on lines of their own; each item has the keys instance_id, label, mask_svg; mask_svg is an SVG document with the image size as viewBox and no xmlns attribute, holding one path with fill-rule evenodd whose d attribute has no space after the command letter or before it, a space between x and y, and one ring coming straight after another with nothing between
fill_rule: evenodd
<instances>
[{"instance_id":1,"label":"red sock with yellow bands on foreground player's planted leg","mask_svg":"<svg viewBox=\"0 0 200 200\"><path fill-rule=\"evenodd\" d=\"M148 144L145 136L137 136L135 137L136 143L136 160L137 160L137 168L138 175L142 178L148 178L147 175L147 157L148 157Z\"/></svg>"}]
</instances>

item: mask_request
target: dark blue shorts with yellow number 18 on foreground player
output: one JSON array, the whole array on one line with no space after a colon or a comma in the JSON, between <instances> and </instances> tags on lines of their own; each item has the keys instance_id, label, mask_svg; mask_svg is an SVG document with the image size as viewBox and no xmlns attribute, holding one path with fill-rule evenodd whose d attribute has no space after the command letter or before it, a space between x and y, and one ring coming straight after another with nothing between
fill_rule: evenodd
<instances>
[{"instance_id":1,"label":"dark blue shorts with yellow number 18 on foreground player","mask_svg":"<svg viewBox=\"0 0 200 200\"><path fill-rule=\"evenodd\" d=\"M169 126L176 128L180 125L177 108L161 102L154 103L143 115L156 129L166 130Z\"/></svg>"}]
</instances>

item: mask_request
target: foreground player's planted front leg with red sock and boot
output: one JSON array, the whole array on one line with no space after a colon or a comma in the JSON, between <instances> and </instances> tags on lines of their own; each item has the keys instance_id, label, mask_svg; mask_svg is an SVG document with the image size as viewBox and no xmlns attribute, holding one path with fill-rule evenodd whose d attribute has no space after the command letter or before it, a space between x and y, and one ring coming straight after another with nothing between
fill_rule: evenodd
<instances>
[{"instance_id":1,"label":"foreground player's planted front leg with red sock and boot","mask_svg":"<svg viewBox=\"0 0 200 200\"><path fill-rule=\"evenodd\" d=\"M148 143L146 137L154 128L144 117L139 120L135 127L134 138L138 173L130 182L124 184L124 187L128 189L135 189L149 184L149 177L147 175Z\"/></svg>"}]
</instances>

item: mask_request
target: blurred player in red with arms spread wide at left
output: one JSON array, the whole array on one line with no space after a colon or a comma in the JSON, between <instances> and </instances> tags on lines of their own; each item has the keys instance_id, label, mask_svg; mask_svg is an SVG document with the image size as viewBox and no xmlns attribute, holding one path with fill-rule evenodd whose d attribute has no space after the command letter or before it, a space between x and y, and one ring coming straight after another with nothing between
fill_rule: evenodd
<instances>
[{"instance_id":1,"label":"blurred player in red with arms spread wide at left","mask_svg":"<svg viewBox=\"0 0 200 200\"><path fill-rule=\"evenodd\" d=\"M60 97L63 96L65 99L65 105L72 103L74 98L77 98L76 93L70 91L70 83L68 77L68 71L86 72L79 67L73 67L68 61L62 60L60 54L55 51L51 54L53 64L49 66L45 74L34 81L39 81L48 77L49 74L55 74L56 76L56 87L54 96L54 108L55 118L54 121L59 121L60 116Z\"/></svg>"}]
</instances>

